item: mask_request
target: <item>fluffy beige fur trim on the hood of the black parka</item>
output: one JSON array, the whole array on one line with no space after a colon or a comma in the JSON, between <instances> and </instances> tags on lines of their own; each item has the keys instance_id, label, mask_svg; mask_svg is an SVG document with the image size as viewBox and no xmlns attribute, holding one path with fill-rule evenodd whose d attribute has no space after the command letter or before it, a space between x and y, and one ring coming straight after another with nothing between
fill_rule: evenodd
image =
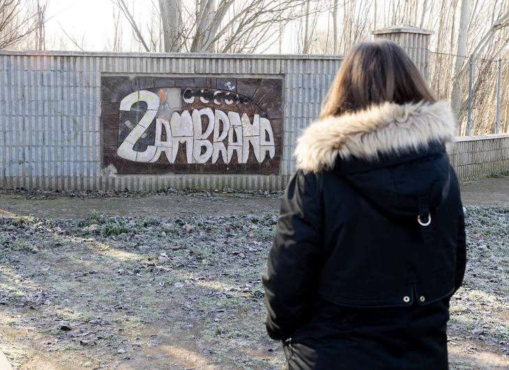
<instances>
[{"instance_id":1,"label":"fluffy beige fur trim on the hood of the black parka","mask_svg":"<svg viewBox=\"0 0 509 370\"><path fill-rule=\"evenodd\" d=\"M352 114L315 121L297 139L298 169L328 171L337 157L377 160L379 155L452 141L456 125L448 102L384 103Z\"/></svg>"}]
</instances>

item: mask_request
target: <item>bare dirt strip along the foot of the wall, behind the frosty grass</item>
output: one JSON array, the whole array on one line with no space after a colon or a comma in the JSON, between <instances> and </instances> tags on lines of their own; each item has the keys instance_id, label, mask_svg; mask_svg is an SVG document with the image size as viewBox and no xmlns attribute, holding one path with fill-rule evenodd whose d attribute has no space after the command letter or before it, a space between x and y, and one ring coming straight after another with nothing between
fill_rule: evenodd
<instances>
[{"instance_id":1,"label":"bare dirt strip along the foot of the wall, behind the frosty grass","mask_svg":"<svg viewBox=\"0 0 509 370\"><path fill-rule=\"evenodd\" d=\"M171 217L178 215L261 215L278 211L281 194L250 195L222 192L128 196L59 196L3 194L0 217L13 213L33 217L87 217L90 210L109 216ZM509 206L509 176L462 183L464 206Z\"/></svg>"}]
</instances>

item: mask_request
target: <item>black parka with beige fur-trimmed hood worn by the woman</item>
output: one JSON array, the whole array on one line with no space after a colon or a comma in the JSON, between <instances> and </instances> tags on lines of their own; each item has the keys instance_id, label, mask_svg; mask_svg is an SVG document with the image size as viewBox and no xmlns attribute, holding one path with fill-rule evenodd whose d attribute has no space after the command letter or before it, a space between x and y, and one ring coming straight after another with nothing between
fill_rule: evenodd
<instances>
[{"instance_id":1,"label":"black parka with beige fur-trimmed hood worn by the woman","mask_svg":"<svg viewBox=\"0 0 509 370\"><path fill-rule=\"evenodd\" d=\"M386 104L299 139L263 276L291 368L447 368L465 268L454 130L444 102Z\"/></svg>"}]
</instances>

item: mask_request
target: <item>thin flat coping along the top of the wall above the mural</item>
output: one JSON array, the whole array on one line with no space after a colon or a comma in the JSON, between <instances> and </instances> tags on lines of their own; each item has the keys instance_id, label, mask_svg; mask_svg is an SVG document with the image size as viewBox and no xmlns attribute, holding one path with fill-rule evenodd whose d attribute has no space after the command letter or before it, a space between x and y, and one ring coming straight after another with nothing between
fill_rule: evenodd
<instances>
[{"instance_id":1,"label":"thin flat coping along the top of the wall above the mural","mask_svg":"<svg viewBox=\"0 0 509 370\"><path fill-rule=\"evenodd\" d=\"M147 53L147 52L75 52L63 50L5 50L0 55L26 56L96 56L96 57L138 57L138 58L190 58L190 59L314 59L343 60L343 54L216 54L216 53Z\"/></svg>"}]
</instances>

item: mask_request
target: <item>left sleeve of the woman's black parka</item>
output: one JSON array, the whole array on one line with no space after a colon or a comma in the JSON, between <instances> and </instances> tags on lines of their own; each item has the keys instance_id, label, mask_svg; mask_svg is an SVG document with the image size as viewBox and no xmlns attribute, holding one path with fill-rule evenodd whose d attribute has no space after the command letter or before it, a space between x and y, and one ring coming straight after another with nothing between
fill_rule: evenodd
<instances>
[{"instance_id":1,"label":"left sleeve of the woman's black parka","mask_svg":"<svg viewBox=\"0 0 509 370\"><path fill-rule=\"evenodd\" d=\"M296 172L284 193L262 278L273 339L291 338L309 317L323 250L321 213L317 176Z\"/></svg>"}]
</instances>

